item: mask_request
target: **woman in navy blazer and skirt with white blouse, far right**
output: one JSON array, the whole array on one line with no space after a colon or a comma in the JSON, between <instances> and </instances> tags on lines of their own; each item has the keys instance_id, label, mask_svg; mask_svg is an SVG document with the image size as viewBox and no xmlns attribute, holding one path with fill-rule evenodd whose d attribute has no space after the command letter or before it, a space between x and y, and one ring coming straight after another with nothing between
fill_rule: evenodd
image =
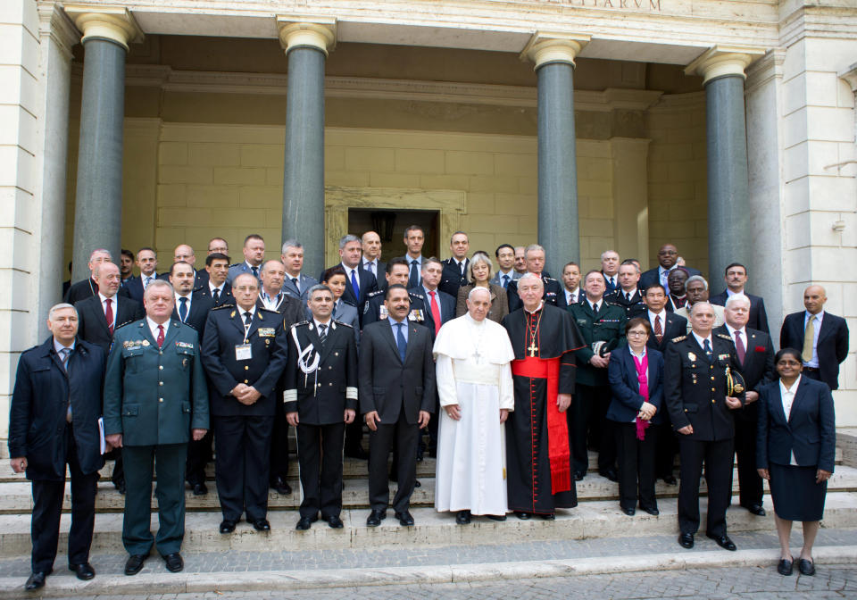
<instances>
[{"instance_id":1,"label":"woman in navy blazer and skirt with white blouse, far right","mask_svg":"<svg viewBox=\"0 0 857 600\"><path fill-rule=\"evenodd\" d=\"M792 521L803 521L798 569L814 575L812 544L824 514L824 497L836 453L836 415L826 383L802 376L801 353L784 348L774 357L779 375L759 390L756 466L768 479L779 536L782 575L792 574L788 546Z\"/></svg>"}]
</instances>

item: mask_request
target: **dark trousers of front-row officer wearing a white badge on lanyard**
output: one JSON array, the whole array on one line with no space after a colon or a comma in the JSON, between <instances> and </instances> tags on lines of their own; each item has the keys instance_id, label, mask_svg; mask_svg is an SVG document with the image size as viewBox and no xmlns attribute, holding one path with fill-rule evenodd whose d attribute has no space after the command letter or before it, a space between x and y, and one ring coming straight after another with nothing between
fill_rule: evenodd
<instances>
[{"instance_id":1,"label":"dark trousers of front-row officer wearing a white badge on lanyard","mask_svg":"<svg viewBox=\"0 0 857 600\"><path fill-rule=\"evenodd\" d=\"M229 521L264 519L268 514L268 457L273 416L216 416L214 462L220 511Z\"/></svg>"}]
</instances>

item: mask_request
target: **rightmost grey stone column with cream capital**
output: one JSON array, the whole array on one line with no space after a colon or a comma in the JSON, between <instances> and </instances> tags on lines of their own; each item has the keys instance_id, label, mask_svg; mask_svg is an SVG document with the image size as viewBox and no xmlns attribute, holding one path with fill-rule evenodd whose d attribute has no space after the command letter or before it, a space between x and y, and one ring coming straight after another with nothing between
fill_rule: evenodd
<instances>
[{"instance_id":1,"label":"rightmost grey stone column with cream capital","mask_svg":"<svg viewBox=\"0 0 857 600\"><path fill-rule=\"evenodd\" d=\"M714 47L685 72L703 76L708 153L709 279L720 283L726 265L753 254L747 179L745 68L758 48Z\"/></svg>"}]
</instances>

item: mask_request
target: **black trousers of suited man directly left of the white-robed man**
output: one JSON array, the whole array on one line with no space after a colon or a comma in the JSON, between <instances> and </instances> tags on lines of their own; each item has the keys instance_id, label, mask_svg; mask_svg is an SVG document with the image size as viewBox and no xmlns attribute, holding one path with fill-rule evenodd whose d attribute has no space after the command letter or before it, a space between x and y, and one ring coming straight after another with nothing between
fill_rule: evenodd
<instances>
[{"instance_id":1,"label":"black trousers of suited man directly left of the white-robed man","mask_svg":"<svg viewBox=\"0 0 857 600\"><path fill-rule=\"evenodd\" d=\"M396 479L399 489L393 498L395 512L407 511L411 505L414 482L417 480L417 444L420 426L409 424L404 412L395 423L378 425L377 431L369 434L369 503L372 510L387 510L390 501L390 485L387 478L387 459L395 440L398 456Z\"/></svg>"}]
</instances>

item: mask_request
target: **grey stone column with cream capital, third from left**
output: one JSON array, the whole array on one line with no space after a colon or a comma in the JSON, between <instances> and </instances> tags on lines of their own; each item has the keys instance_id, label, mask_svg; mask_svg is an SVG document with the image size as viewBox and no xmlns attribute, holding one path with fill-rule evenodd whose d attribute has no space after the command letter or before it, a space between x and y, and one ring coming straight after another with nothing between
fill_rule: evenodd
<instances>
[{"instance_id":1,"label":"grey stone column with cream capital, third from left","mask_svg":"<svg viewBox=\"0 0 857 600\"><path fill-rule=\"evenodd\" d=\"M521 58L536 63L538 77L538 243L545 271L580 261L578 168L574 132L574 59L588 36L530 38Z\"/></svg>"}]
</instances>

